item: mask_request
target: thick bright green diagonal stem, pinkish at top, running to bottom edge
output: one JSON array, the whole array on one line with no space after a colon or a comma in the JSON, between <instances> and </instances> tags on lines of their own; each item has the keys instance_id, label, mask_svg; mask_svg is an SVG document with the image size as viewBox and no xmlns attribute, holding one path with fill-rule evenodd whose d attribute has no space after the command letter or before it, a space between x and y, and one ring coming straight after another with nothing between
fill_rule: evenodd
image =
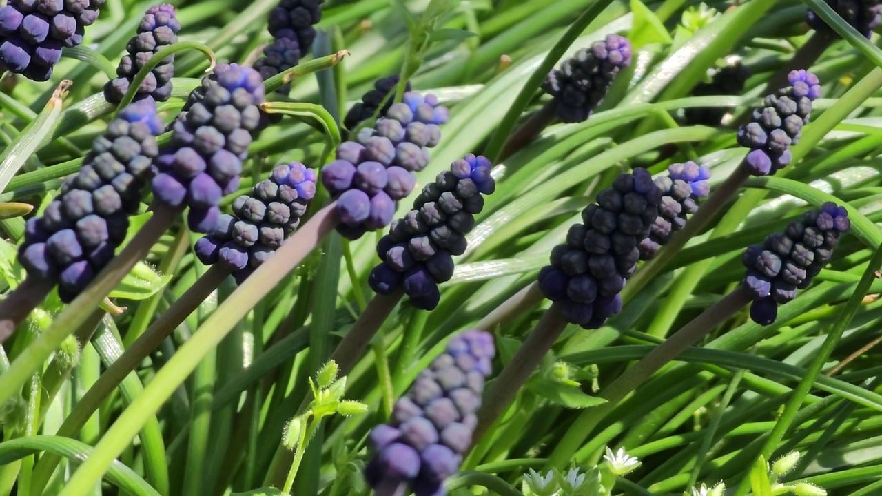
<instances>
[{"instance_id":1,"label":"thick bright green diagonal stem, pinkish at top, running to bottom edge","mask_svg":"<svg viewBox=\"0 0 882 496\"><path fill-rule=\"evenodd\" d=\"M86 462L64 486L62 496L85 494L100 479L116 456L129 446L149 417L174 394L206 353L220 343L236 323L250 312L276 284L282 281L337 224L336 202L320 210L297 231L276 255L233 291L198 328L190 340L177 350L153 381L117 418ZM47 334L47 333L44 333ZM17 360L18 362L18 360ZM13 364L14 368L15 364ZM2 387L8 387L5 382ZM0 390L2 391L2 390Z\"/></svg>"}]
</instances>

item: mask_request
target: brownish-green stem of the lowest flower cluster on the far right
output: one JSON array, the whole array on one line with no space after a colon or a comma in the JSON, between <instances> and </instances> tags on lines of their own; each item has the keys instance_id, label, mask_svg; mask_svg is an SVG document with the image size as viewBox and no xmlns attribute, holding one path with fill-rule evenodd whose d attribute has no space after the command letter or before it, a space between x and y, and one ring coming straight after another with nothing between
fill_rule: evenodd
<instances>
[{"instance_id":1,"label":"brownish-green stem of the lowest flower cluster on the far right","mask_svg":"<svg viewBox=\"0 0 882 496\"><path fill-rule=\"evenodd\" d=\"M594 430L594 427L613 410L618 402L629 395L634 389L643 384L656 371L678 357L691 345L699 342L701 338L713 331L722 322L735 315L751 302L751 293L744 286L723 297L720 301L707 308L698 317L682 327L679 331L655 347L646 357L640 359L637 364L626 370L617 380L605 387L600 397L607 400L600 406L584 410L576 421L564 433L557 447L551 452L546 466L564 467L572 460L572 456L579 449L582 441ZM688 477L688 474L687 474Z\"/></svg>"}]
</instances>

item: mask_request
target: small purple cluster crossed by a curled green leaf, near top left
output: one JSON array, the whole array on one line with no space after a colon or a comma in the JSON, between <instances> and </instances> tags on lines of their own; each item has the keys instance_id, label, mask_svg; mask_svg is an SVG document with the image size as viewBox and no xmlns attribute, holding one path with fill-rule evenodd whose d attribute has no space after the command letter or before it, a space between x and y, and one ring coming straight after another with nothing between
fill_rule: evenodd
<instances>
[{"instance_id":1,"label":"small purple cluster crossed by a curled green leaf, near top left","mask_svg":"<svg viewBox=\"0 0 882 496\"><path fill-rule=\"evenodd\" d=\"M125 46L128 54L123 56L116 67L116 79L104 85L104 98L111 103L119 103L129 91L131 80L144 67L150 57L177 42L177 32L181 23L175 17L175 7L171 4L153 5L147 9L144 19L138 25L138 34ZM175 74L175 56L167 56L147 74L138 86L135 100L148 96L156 101L166 101L171 96L171 78Z\"/></svg>"}]
</instances>

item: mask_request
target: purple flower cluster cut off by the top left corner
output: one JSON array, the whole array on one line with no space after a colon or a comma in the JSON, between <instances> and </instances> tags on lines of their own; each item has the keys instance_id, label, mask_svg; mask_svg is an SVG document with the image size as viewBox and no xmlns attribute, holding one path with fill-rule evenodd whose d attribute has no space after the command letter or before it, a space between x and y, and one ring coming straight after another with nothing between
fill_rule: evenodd
<instances>
[{"instance_id":1,"label":"purple flower cluster cut off by the top left corner","mask_svg":"<svg viewBox=\"0 0 882 496\"><path fill-rule=\"evenodd\" d=\"M9 0L0 8L0 67L34 81L52 76L62 47L83 42L104 0Z\"/></svg>"}]
</instances>

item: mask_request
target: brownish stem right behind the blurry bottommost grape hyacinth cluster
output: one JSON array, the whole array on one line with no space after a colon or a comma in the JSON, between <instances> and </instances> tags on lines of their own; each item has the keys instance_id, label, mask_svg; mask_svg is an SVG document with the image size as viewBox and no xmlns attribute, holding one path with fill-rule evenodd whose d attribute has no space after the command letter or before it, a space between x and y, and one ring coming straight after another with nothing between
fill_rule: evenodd
<instances>
[{"instance_id":1,"label":"brownish stem right behind the blurry bottommost grape hyacinth cluster","mask_svg":"<svg viewBox=\"0 0 882 496\"><path fill-rule=\"evenodd\" d=\"M520 345L512 360L505 364L502 372L484 393L481 408L478 410L478 425L472 436L473 443L480 441L488 427L508 408L521 386L542 362L542 358L554 346L557 337L564 332L566 320L557 304L542 315L533 332Z\"/></svg>"}]
</instances>

